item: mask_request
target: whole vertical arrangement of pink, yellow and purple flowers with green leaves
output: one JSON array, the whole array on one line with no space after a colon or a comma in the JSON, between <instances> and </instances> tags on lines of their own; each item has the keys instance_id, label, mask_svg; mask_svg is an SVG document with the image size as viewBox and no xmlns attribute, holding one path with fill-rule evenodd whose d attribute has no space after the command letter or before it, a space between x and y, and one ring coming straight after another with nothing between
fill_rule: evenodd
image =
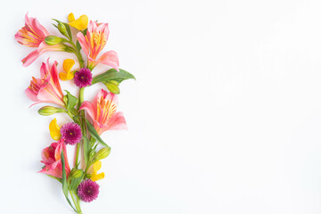
<instances>
[{"instance_id":1,"label":"whole vertical arrangement of pink, yellow and purple flowers with green leaves","mask_svg":"<svg viewBox=\"0 0 321 214\"><path fill-rule=\"evenodd\" d=\"M98 197L97 180L104 177L98 170L102 167L101 160L111 152L111 147L103 142L101 135L107 130L127 129L123 113L117 111L119 84L135 77L119 69L119 56L115 51L103 52L110 32L108 23L88 21L86 15L76 20L73 13L68 15L68 22L53 21L53 26L62 36L50 35L37 19L27 13L25 26L17 32L15 39L21 45L34 49L22 60L24 67L46 52L73 53L78 59L79 70L73 69L76 62L72 59L65 59L62 70L58 70L58 62L48 58L40 67L39 77L32 77L25 92L34 102L31 106L52 104L41 107L38 110L40 115L65 113L70 117L70 122L62 126L58 125L57 119L50 122L50 136L55 142L42 151L44 167L39 172L59 181L70 207L82 213L80 202L92 202ZM109 70L93 77L99 63ZM67 90L64 94L60 81L70 81L72 86L77 86L78 95ZM84 101L86 87L98 83L103 83L107 90L101 89L93 102ZM67 157L67 145L75 147L73 166Z\"/></svg>"}]
</instances>

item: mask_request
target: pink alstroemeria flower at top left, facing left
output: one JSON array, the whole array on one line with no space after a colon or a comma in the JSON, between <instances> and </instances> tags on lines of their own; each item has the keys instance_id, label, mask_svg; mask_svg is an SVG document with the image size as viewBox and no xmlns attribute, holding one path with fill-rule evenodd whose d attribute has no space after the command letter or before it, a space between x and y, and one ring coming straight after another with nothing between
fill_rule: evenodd
<instances>
[{"instance_id":1,"label":"pink alstroemeria flower at top left, facing left","mask_svg":"<svg viewBox=\"0 0 321 214\"><path fill-rule=\"evenodd\" d=\"M29 53L21 62L24 67L29 66L42 53L49 51L64 51L65 45L46 45L45 37L49 36L49 32L39 24L37 19L25 16L25 26L20 29L14 36L18 43L29 47L37 47L37 50Z\"/></svg>"}]
</instances>

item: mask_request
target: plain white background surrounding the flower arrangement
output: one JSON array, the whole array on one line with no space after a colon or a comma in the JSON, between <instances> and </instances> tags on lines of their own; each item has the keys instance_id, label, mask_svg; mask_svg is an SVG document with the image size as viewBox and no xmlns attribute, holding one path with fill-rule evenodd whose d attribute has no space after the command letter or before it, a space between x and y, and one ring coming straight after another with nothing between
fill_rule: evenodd
<instances>
[{"instance_id":1,"label":"plain white background surrounding the flower arrangement","mask_svg":"<svg viewBox=\"0 0 321 214\"><path fill-rule=\"evenodd\" d=\"M109 22L105 50L137 79L120 86L128 131L103 134L111 155L85 214L321 213L320 11L307 0L6 1L0 212L72 213L60 184L37 173L53 117L24 95L41 62L61 69L71 55L23 68L33 49L13 36L26 12L53 34L51 19L74 12Z\"/></svg>"}]
</instances>

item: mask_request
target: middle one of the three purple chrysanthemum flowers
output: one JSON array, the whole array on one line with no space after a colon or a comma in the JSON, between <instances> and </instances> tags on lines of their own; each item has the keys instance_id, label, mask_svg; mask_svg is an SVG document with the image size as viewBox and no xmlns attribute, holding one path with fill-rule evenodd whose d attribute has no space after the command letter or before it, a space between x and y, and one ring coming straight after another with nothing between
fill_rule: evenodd
<instances>
[{"instance_id":1,"label":"middle one of the three purple chrysanthemum flowers","mask_svg":"<svg viewBox=\"0 0 321 214\"><path fill-rule=\"evenodd\" d=\"M82 137L81 128L77 123L66 123L61 128L62 138L65 139L66 144L77 144Z\"/></svg>"}]
</instances>

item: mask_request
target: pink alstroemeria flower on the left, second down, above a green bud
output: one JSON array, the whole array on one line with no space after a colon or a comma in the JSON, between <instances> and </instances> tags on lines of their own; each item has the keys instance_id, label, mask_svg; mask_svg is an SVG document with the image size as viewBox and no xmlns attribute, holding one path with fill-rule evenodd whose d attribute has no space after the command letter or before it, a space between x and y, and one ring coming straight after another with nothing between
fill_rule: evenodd
<instances>
[{"instance_id":1,"label":"pink alstroemeria flower on the left, second down, above a green bud","mask_svg":"<svg viewBox=\"0 0 321 214\"><path fill-rule=\"evenodd\" d=\"M43 62L40 68L40 75L41 78L32 77L30 86L25 90L26 95L31 101L37 103L54 103L64 107L62 87L58 79L57 62L53 62L50 67L48 58L47 62Z\"/></svg>"}]
</instances>

